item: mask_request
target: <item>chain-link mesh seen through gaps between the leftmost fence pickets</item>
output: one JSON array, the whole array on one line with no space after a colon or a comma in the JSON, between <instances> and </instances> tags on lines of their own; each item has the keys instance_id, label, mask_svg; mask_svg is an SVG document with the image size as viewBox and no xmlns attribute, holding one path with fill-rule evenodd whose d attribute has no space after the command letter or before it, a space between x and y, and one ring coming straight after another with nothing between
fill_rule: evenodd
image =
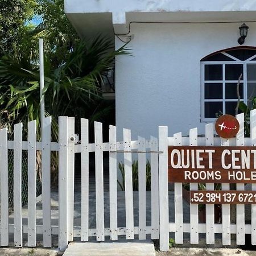
<instances>
[{"instance_id":1,"label":"chain-link mesh seen through gaps between the leftmost fence pickets","mask_svg":"<svg viewBox=\"0 0 256 256\"><path fill-rule=\"evenodd\" d=\"M8 150L8 174L9 174L9 212L13 212L14 195L14 150ZM36 175L36 196L42 192L39 172ZM28 173L27 173L27 151L22 152L22 206L27 204L28 199Z\"/></svg>"}]
</instances>

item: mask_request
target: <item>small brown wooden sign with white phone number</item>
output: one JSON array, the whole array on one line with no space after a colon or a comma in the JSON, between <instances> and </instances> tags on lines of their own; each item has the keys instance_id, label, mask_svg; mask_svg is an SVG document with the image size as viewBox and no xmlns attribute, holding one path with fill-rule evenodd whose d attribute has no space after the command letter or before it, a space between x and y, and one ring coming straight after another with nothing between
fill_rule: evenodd
<instances>
[{"instance_id":1,"label":"small brown wooden sign with white phone number","mask_svg":"<svg viewBox=\"0 0 256 256\"><path fill-rule=\"evenodd\" d=\"M191 191L191 204L256 204L256 191Z\"/></svg>"}]
</instances>

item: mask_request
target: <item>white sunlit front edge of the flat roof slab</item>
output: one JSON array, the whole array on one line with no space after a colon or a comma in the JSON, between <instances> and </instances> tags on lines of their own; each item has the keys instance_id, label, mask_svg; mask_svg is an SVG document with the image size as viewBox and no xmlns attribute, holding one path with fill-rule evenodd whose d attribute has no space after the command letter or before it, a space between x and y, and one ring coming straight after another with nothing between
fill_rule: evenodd
<instances>
[{"instance_id":1,"label":"white sunlit front edge of the flat roof slab","mask_svg":"<svg viewBox=\"0 0 256 256\"><path fill-rule=\"evenodd\" d=\"M65 0L67 13L148 11L250 11L254 0Z\"/></svg>"}]
</instances>

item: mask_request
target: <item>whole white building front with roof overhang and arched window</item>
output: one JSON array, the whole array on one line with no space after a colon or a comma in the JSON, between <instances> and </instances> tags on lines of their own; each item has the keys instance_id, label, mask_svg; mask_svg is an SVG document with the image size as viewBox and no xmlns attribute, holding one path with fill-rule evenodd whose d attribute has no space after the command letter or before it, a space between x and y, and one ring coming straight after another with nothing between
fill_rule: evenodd
<instances>
[{"instance_id":1,"label":"whole white building front with roof overhang and arched window","mask_svg":"<svg viewBox=\"0 0 256 256\"><path fill-rule=\"evenodd\" d=\"M81 36L104 32L115 48L130 41L133 56L115 62L115 107L117 127L134 139L159 125L170 136L204 134L216 113L234 114L241 74L242 101L256 96L255 0L65 0L65 12Z\"/></svg>"}]
</instances>

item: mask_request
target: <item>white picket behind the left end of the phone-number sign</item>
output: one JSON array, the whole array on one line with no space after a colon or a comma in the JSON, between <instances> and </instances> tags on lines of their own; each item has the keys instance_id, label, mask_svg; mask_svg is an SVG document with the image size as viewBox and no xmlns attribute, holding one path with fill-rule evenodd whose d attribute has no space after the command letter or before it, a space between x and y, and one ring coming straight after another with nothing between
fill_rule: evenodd
<instances>
[{"instance_id":1,"label":"white picket behind the left end of the phone-number sign","mask_svg":"<svg viewBox=\"0 0 256 256\"><path fill-rule=\"evenodd\" d=\"M197 146L197 128L189 130L189 145ZM190 190L198 190L197 183L190 183ZM198 204L190 204L190 242L199 243Z\"/></svg>"}]
</instances>

